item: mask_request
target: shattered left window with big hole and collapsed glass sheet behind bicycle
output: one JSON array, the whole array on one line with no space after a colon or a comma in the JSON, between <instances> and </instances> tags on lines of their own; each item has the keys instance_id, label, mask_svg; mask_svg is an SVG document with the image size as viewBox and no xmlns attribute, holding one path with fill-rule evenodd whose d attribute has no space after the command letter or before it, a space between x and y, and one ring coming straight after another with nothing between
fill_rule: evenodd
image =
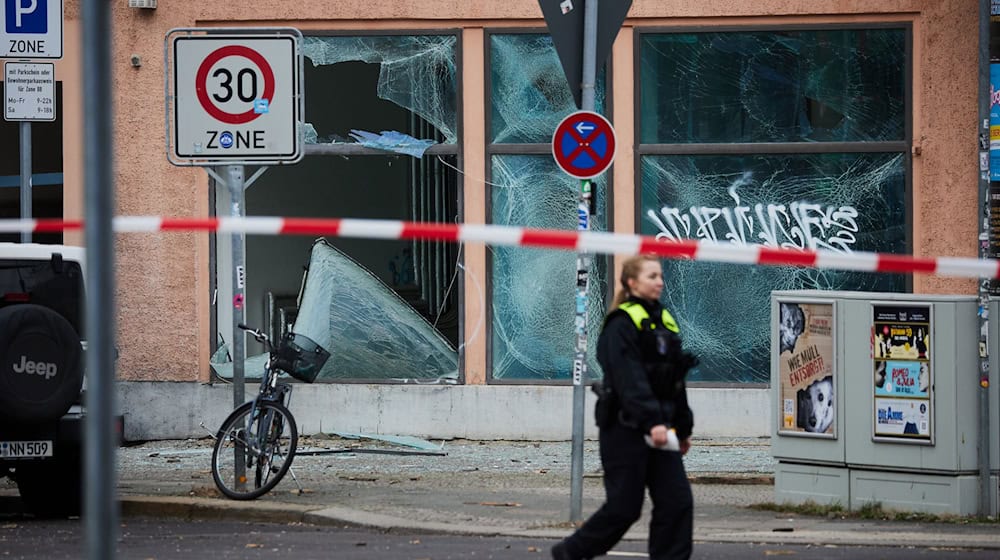
<instances>
[{"instance_id":1,"label":"shattered left window with big hole and collapsed glass sheet behind bicycle","mask_svg":"<svg viewBox=\"0 0 1000 560\"><path fill-rule=\"evenodd\" d=\"M248 187L247 215L461 222L457 49L454 34L305 37L306 155ZM226 188L215 193L224 213ZM232 297L228 241L217 243L219 301ZM430 240L248 236L246 323L319 343L330 352L320 382L457 383L460 252ZM212 360L222 377L232 375L228 307L218 306ZM262 352L248 340L248 378L262 373Z\"/></svg>"}]
</instances>

